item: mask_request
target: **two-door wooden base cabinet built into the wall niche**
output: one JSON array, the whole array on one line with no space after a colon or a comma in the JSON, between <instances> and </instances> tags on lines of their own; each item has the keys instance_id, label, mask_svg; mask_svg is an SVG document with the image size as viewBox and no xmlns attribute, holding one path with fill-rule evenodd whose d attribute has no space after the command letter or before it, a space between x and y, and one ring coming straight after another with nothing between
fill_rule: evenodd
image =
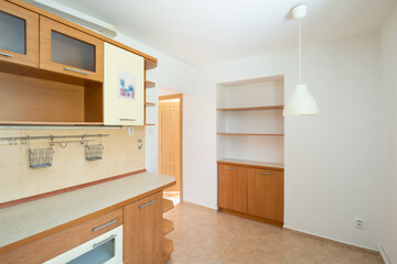
<instances>
[{"instance_id":1,"label":"two-door wooden base cabinet built into the wall niche","mask_svg":"<svg viewBox=\"0 0 397 264\"><path fill-rule=\"evenodd\" d=\"M282 227L283 169L218 164L218 207L221 211Z\"/></svg>"}]
</instances>

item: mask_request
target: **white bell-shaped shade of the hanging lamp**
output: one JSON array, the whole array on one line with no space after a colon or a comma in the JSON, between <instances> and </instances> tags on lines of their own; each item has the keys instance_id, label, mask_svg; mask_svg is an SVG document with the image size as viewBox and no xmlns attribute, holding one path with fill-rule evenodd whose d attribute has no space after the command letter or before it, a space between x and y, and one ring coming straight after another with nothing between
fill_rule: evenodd
<instances>
[{"instance_id":1,"label":"white bell-shaped shade of the hanging lamp","mask_svg":"<svg viewBox=\"0 0 397 264\"><path fill-rule=\"evenodd\" d=\"M282 114L293 116L316 116L319 107L314 98L310 95L307 85L297 85L291 97L287 100Z\"/></svg>"}]
</instances>

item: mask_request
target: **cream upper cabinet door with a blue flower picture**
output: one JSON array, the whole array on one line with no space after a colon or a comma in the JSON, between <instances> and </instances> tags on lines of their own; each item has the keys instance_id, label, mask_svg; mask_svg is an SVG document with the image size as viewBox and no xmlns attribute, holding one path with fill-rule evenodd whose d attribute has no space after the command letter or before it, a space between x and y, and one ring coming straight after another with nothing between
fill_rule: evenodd
<instances>
[{"instance_id":1,"label":"cream upper cabinet door with a blue flower picture","mask_svg":"<svg viewBox=\"0 0 397 264\"><path fill-rule=\"evenodd\" d=\"M104 61L105 125L143 125L143 57L105 43Z\"/></svg>"}]
</instances>

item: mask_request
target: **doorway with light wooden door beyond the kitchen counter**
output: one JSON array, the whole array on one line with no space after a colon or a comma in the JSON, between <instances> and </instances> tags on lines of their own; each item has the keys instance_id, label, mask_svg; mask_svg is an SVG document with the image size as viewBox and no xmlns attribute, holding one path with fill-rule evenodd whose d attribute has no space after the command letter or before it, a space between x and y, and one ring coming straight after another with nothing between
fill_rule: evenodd
<instances>
[{"instance_id":1,"label":"doorway with light wooden door beyond the kitchen counter","mask_svg":"<svg viewBox=\"0 0 397 264\"><path fill-rule=\"evenodd\" d=\"M164 190L174 205L183 201L182 110L182 95L159 97L159 173L176 179L176 185Z\"/></svg>"}]
</instances>

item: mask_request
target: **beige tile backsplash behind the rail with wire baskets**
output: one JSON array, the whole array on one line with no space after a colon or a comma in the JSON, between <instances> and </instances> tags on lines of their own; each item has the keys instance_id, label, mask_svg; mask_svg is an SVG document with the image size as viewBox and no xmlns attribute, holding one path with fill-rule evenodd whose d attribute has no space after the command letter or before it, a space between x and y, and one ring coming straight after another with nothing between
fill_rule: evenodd
<instances>
[{"instance_id":1,"label":"beige tile backsplash behind the rail with wire baskets","mask_svg":"<svg viewBox=\"0 0 397 264\"><path fill-rule=\"evenodd\" d=\"M0 130L1 138L25 135L79 135L109 134L103 138L104 158L88 162L79 143L68 143L65 148L54 145L53 165L47 168L30 168L28 145L10 145L0 141L0 204L40 195L75 185L143 169L144 127L135 127L128 135L127 128L120 130ZM138 140L143 141L138 150ZM31 148L49 147L50 141L31 141ZM98 139L89 144L99 143Z\"/></svg>"}]
</instances>

